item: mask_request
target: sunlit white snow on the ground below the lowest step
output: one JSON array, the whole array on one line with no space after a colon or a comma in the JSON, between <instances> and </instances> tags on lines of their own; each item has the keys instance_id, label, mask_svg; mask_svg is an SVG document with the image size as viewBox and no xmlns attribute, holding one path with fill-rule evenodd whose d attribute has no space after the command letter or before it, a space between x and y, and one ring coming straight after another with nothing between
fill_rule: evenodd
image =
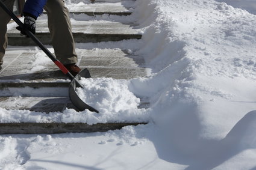
<instances>
[{"instance_id":1,"label":"sunlit white snow on the ground below the lowest step","mask_svg":"<svg viewBox=\"0 0 256 170\"><path fill-rule=\"evenodd\" d=\"M1 136L3 169L184 169L158 159L148 138L152 126L128 126L107 133ZM152 133L152 135L157 133ZM157 145L157 147L161 147ZM4 162L4 160L8 160ZM11 161L10 161L11 160ZM26 162L23 165L18 163Z\"/></svg>"}]
</instances>

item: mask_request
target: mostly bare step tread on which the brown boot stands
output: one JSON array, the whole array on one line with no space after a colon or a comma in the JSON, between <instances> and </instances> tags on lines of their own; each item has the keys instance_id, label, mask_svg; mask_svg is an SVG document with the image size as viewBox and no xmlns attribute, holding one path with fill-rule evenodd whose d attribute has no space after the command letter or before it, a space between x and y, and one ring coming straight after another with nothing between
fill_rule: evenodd
<instances>
[{"instance_id":1,"label":"mostly bare step tread on which the brown boot stands","mask_svg":"<svg viewBox=\"0 0 256 170\"><path fill-rule=\"evenodd\" d=\"M81 68L88 68L92 77L131 79L146 76L144 59L138 55L128 54L126 50L77 49L76 52L78 65ZM12 61L4 61L3 69L0 71L0 87L39 87L40 83L45 83L46 87L67 87L68 78L42 51L23 51L16 55L8 51L5 54L5 58L11 58Z\"/></svg>"}]
</instances>

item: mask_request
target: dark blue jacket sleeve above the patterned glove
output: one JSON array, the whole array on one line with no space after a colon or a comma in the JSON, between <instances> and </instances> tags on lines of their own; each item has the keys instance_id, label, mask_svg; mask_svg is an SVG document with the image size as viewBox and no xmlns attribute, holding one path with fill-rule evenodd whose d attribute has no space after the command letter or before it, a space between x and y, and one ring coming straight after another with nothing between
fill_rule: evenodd
<instances>
[{"instance_id":1,"label":"dark blue jacket sleeve above the patterned glove","mask_svg":"<svg viewBox=\"0 0 256 170\"><path fill-rule=\"evenodd\" d=\"M42 14L46 1L47 0L27 0L24 5L23 13L31 14L37 18Z\"/></svg>"}]
</instances>

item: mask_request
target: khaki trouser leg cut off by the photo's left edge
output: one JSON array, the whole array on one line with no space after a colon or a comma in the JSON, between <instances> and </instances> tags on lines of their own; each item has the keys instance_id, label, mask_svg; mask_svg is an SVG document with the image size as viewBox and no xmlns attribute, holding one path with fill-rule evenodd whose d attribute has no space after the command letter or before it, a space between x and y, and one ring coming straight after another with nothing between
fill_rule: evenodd
<instances>
[{"instance_id":1,"label":"khaki trouser leg cut off by the photo's left edge","mask_svg":"<svg viewBox=\"0 0 256 170\"><path fill-rule=\"evenodd\" d=\"M13 11L14 0L4 0L3 2L11 11ZM0 7L0 65L2 65L2 58L4 58L5 49L7 48L8 39L6 32L7 24L10 20L11 17Z\"/></svg>"}]
</instances>

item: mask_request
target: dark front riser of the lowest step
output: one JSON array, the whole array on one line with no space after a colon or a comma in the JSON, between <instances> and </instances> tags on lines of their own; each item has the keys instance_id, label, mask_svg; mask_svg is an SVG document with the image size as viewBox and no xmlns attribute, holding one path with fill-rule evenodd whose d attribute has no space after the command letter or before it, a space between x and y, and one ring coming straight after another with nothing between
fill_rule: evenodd
<instances>
[{"instance_id":1,"label":"dark front riser of the lowest step","mask_svg":"<svg viewBox=\"0 0 256 170\"><path fill-rule=\"evenodd\" d=\"M0 123L0 134L107 132L146 123Z\"/></svg>"}]
</instances>

